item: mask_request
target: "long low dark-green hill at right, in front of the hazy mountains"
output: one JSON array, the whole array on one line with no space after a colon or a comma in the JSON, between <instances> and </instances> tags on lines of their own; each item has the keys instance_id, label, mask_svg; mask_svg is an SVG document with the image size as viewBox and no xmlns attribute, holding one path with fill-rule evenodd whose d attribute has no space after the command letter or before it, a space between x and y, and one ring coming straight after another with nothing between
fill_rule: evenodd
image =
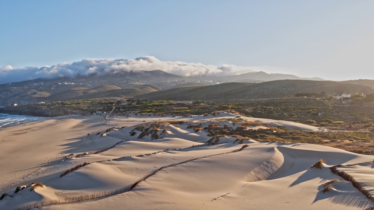
<instances>
[{"instance_id":1,"label":"long low dark-green hill at right, in front of the hazy mountains","mask_svg":"<svg viewBox=\"0 0 374 210\"><path fill-rule=\"evenodd\" d=\"M139 95L134 98L148 100L240 100L294 96L296 93L374 93L373 87L347 81L276 80L264 83L222 83L213 86L176 88Z\"/></svg>"}]
</instances>

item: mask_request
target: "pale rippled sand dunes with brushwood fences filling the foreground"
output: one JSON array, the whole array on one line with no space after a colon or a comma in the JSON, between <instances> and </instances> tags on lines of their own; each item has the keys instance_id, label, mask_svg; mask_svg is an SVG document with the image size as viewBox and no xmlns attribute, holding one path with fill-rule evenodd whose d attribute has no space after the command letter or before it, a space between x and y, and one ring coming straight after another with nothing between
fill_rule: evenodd
<instances>
[{"instance_id":1,"label":"pale rippled sand dunes with brushwood fences filling the foreground","mask_svg":"<svg viewBox=\"0 0 374 210\"><path fill-rule=\"evenodd\" d=\"M0 209L374 207L372 200L330 169L344 165L337 169L356 177L374 196L373 156L304 143L256 142L230 136L211 139L206 130L199 129L212 123L240 126L234 121L239 118L261 122L262 129L278 125L318 130L300 123L238 117L224 112L205 117L134 114L107 120L108 124L102 124L103 118L99 116L74 120L59 117L1 129L4 141L0 149L0 181L4 183L12 175L19 176L30 169L38 170L31 175L27 172L26 177L5 189L4 184L1 186L0 194L10 196L0 200ZM15 137L14 133L19 134ZM71 155L56 158L62 152ZM39 169L38 164L53 155L55 160L52 158ZM326 162L321 169L310 168L320 159ZM89 164L61 176L83 163ZM331 183L322 193L324 184L334 179L342 181ZM28 185L33 182L45 186L32 189ZM14 194L19 185L28 187ZM75 200L82 201L72 202Z\"/></svg>"}]
</instances>

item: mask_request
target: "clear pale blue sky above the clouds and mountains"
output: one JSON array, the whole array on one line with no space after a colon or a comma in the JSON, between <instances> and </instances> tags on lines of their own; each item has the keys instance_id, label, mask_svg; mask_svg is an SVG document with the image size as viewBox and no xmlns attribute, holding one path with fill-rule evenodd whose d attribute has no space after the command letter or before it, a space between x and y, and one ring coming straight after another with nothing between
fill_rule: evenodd
<instances>
[{"instance_id":1,"label":"clear pale blue sky above the clouds and mountains","mask_svg":"<svg viewBox=\"0 0 374 210\"><path fill-rule=\"evenodd\" d=\"M374 1L0 0L0 68L141 56L374 79Z\"/></svg>"}]
</instances>

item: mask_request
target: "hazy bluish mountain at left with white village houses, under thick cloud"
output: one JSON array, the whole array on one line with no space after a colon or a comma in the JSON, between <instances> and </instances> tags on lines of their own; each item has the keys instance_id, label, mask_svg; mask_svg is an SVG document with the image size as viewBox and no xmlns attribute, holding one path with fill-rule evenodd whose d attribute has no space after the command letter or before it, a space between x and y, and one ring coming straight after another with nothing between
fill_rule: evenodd
<instances>
[{"instance_id":1,"label":"hazy bluish mountain at left with white village houses, under thick cloud","mask_svg":"<svg viewBox=\"0 0 374 210\"><path fill-rule=\"evenodd\" d=\"M0 85L0 106L8 104L30 104L41 101L61 101L76 98L98 98L99 93L112 90L110 95L100 95L100 97L126 96L132 97L134 93L128 89L139 87L144 84L156 85L156 89L151 87L141 87L133 91L138 94L147 93L153 90L168 89L173 84L184 83L186 78L169 74L164 71L129 71L118 72L116 74L92 74L89 76L39 78L34 80L7 83ZM152 89L152 90L151 90ZM85 96L87 95L87 97ZM95 96L97 95L97 96Z\"/></svg>"}]
</instances>

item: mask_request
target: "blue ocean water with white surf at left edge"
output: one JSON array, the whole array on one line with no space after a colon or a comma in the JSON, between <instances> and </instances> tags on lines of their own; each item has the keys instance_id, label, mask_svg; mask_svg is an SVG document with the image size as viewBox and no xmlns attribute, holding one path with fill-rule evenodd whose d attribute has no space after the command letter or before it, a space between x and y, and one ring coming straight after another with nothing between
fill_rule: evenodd
<instances>
[{"instance_id":1,"label":"blue ocean water with white surf at left edge","mask_svg":"<svg viewBox=\"0 0 374 210\"><path fill-rule=\"evenodd\" d=\"M21 123L45 120L48 118L50 117L35 117L35 116L29 116L29 115L1 114L0 113L0 128L15 126Z\"/></svg>"}]
</instances>

